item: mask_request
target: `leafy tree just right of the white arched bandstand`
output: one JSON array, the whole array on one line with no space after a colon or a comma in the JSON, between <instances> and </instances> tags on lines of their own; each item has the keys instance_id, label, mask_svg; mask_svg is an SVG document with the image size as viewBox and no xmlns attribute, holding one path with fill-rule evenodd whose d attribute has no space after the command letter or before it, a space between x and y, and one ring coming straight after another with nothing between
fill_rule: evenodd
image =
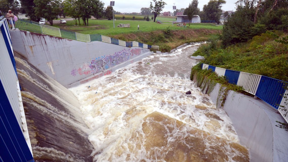
<instances>
[{"instance_id":1,"label":"leafy tree just right of the white arched bandstand","mask_svg":"<svg viewBox=\"0 0 288 162\"><path fill-rule=\"evenodd\" d=\"M207 20L214 20L219 24L220 16L222 13L221 7L225 4L224 0L210 0L207 5L203 6L203 12Z\"/></svg>"}]
</instances>

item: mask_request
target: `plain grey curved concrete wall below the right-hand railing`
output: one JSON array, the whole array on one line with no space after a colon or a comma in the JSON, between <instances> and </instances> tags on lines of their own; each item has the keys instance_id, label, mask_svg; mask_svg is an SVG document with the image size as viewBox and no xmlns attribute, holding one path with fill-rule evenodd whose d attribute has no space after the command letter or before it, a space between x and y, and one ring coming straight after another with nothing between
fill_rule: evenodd
<instances>
[{"instance_id":1,"label":"plain grey curved concrete wall below the right-hand railing","mask_svg":"<svg viewBox=\"0 0 288 162\"><path fill-rule=\"evenodd\" d=\"M207 86L203 87L202 92L209 92ZM225 103L221 106L224 93L221 88L225 87L217 83L209 96L217 108L223 108L232 120L240 143L249 148L250 161L287 161L288 132L276 126L276 121L285 122L277 110L260 99L234 91L228 91Z\"/></svg>"}]
</instances>

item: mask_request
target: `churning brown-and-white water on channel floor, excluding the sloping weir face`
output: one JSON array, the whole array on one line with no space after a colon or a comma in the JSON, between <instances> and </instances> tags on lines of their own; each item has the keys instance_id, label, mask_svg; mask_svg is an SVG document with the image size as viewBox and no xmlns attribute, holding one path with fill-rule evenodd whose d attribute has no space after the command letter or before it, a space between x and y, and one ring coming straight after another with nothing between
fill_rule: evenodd
<instances>
[{"instance_id":1,"label":"churning brown-and-white water on channel floor, excluding the sloping weir face","mask_svg":"<svg viewBox=\"0 0 288 162\"><path fill-rule=\"evenodd\" d=\"M189 79L198 46L70 89L91 130L94 161L249 161L226 112Z\"/></svg>"}]
</instances>

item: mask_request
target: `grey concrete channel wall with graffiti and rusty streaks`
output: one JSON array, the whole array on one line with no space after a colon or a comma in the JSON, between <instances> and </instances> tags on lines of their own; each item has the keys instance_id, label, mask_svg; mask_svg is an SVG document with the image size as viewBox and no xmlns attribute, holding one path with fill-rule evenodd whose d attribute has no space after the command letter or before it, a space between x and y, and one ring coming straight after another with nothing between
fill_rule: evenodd
<instances>
[{"instance_id":1,"label":"grey concrete channel wall with graffiti and rusty streaks","mask_svg":"<svg viewBox=\"0 0 288 162\"><path fill-rule=\"evenodd\" d=\"M16 52L65 87L83 83L85 78L110 75L124 65L153 54L141 47L99 41L86 43L18 29L11 31L11 40Z\"/></svg>"}]
</instances>

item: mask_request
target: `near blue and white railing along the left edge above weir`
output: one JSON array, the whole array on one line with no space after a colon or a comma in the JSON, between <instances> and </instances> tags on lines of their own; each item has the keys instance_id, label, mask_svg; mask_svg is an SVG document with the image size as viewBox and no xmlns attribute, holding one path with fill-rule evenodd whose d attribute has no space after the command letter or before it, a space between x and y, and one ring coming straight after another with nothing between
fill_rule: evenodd
<instances>
[{"instance_id":1,"label":"near blue and white railing along the left edge above weir","mask_svg":"<svg viewBox=\"0 0 288 162\"><path fill-rule=\"evenodd\" d=\"M7 20L0 21L0 161L34 161Z\"/></svg>"}]
</instances>

